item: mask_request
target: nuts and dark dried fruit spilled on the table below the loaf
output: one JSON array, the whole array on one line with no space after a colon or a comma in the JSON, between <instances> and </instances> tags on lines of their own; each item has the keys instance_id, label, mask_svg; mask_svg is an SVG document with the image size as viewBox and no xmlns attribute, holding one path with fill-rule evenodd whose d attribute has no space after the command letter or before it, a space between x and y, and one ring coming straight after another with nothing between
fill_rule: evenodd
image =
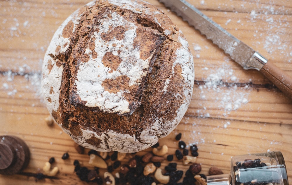
<instances>
[{"instance_id":1,"label":"nuts and dark dried fruit spilled on the table below the loaf","mask_svg":"<svg viewBox=\"0 0 292 185\"><path fill-rule=\"evenodd\" d=\"M197 145L193 144L187 149L185 142L181 140L181 133L176 135L175 140L178 141L178 148L174 154L168 154L168 146L159 146L159 143L152 146L152 151L148 151L140 156L137 153L120 153L120 152L97 152L95 150L88 151L89 164L93 167L82 166L78 160L74 160L74 172L80 180L86 182L95 182L97 184L126 184L126 185L206 185L206 175L200 174L201 164L196 163L198 153ZM78 153L83 154L84 148L75 144ZM62 159L69 157L68 153L64 153ZM176 159L177 160L176 160ZM189 169L185 172L178 170L177 165L189 165ZM46 163L44 171L50 174L50 165L54 162L53 158ZM162 162L167 162L164 169L161 167ZM103 174L101 174L103 172ZM51 173L52 174L52 173ZM210 175L223 174L222 170L212 166L209 170ZM54 174L55 175L55 174Z\"/></svg>"}]
</instances>

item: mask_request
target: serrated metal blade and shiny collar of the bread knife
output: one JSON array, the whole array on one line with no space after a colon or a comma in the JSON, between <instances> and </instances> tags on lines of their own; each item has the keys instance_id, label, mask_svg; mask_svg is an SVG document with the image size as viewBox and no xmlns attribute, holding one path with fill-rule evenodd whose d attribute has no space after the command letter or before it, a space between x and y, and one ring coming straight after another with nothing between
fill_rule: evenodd
<instances>
[{"instance_id":1,"label":"serrated metal blade and shiny collar of the bread knife","mask_svg":"<svg viewBox=\"0 0 292 185\"><path fill-rule=\"evenodd\" d=\"M164 3L171 11L177 13L183 20L198 29L201 34L206 35L207 39L210 39L219 48L223 49L244 69L257 69L260 71L263 65L267 63L267 59L262 55L235 38L187 1L159 0L159 2Z\"/></svg>"}]
</instances>

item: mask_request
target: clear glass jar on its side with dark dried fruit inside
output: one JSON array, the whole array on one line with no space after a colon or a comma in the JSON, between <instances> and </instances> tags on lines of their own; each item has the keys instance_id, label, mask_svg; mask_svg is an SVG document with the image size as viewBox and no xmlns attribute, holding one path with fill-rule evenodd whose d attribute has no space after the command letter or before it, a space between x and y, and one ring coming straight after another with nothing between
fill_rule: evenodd
<instances>
[{"instance_id":1,"label":"clear glass jar on its side with dark dried fruit inside","mask_svg":"<svg viewBox=\"0 0 292 185\"><path fill-rule=\"evenodd\" d=\"M207 176L207 185L288 185L281 152L234 156L231 173Z\"/></svg>"}]
</instances>

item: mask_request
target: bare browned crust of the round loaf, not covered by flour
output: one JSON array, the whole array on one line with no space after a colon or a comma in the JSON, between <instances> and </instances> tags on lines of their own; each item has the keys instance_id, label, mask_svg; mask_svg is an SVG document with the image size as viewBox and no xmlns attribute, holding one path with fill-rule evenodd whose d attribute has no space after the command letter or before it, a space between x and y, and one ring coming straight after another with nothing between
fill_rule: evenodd
<instances>
[{"instance_id":1,"label":"bare browned crust of the round loaf, not covered by flour","mask_svg":"<svg viewBox=\"0 0 292 185\"><path fill-rule=\"evenodd\" d=\"M159 11L148 4L146 8L149 11ZM136 95L133 96L135 99L133 100L129 96L128 100L132 102L131 108L134 110L131 115L106 114L97 107L86 107L86 102L78 97L75 93L76 87L73 85L80 62L88 60L89 56L85 54L87 45L91 48L94 47L94 44L92 44L94 40L90 38L93 31L98 31L94 29L95 25L98 25L98 20L101 18L102 13L109 10L116 11L120 16L139 26L140 35L135 40L135 46L141 48L141 56L147 58L149 53L155 52L151 64L152 67L143 80L142 86L138 87L138 89L133 87L136 89ZM133 13L106 3L99 3L91 9L87 7L81 8L80 12L82 13L80 15L82 23L76 27L78 32L70 34L73 26L69 22L63 30L63 36L71 38L69 48L65 55L56 57L60 60L59 63L63 65L63 74L59 110L52 113L55 120L74 137L82 136L80 129L91 130L101 135L110 128L110 130L122 134L135 135L139 139L140 133L144 129L150 128L157 118L160 118L162 123L175 119L177 110L184 103L186 97L183 92L185 79L180 74L182 68L179 64L175 65L175 75L172 75L173 62L176 60L175 51L181 47L181 43L178 42L178 36L182 35L178 33L171 20L161 13L156 18L163 19L165 24L159 26L150 15ZM164 34L165 29L168 29L171 34ZM122 39L124 28L119 27L115 29L115 32L121 33L119 36ZM143 32L147 34L143 35ZM111 34L105 34L105 40L110 39L112 37ZM94 55L97 55L97 53L94 53ZM112 60L115 63L111 63ZM114 58L108 53L107 57L104 58L104 62L115 70L117 68L115 65L118 65L119 58ZM168 88L171 91L164 92L164 82L168 77L171 77L168 84ZM124 83L126 81L128 81L126 77L121 77L116 81L105 81L104 86L109 91L115 92L118 90L118 86L126 84ZM127 86L124 88L131 89L132 87ZM162 125L161 135L158 137L167 135L168 133L164 132L164 129L166 130L168 127L169 125ZM86 142L97 148L100 144L98 139L89 139Z\"/></svg>"}]
</instances>

